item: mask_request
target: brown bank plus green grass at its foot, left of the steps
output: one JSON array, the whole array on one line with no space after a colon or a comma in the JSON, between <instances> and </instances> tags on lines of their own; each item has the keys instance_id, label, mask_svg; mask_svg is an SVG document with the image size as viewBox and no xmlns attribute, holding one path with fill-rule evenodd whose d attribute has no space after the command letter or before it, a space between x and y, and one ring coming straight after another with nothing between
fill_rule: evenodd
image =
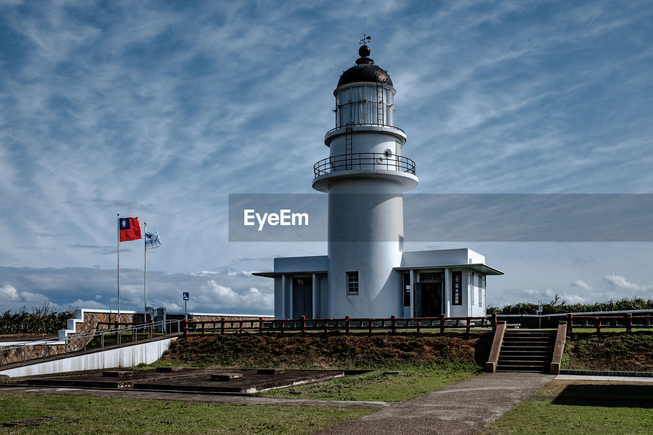
<instances>
[{"instance_id":1,"label":"brown bank plus green grass at its foot, left of the steps","mask_svg":"<svg viewBox=\"0 0 653 435\"><path fill-rule=\"evenodd\" d=\"M357 378L260 393L325 400L401 401L475 376L492 332L439 334L225 334L177 340L157 364L381 369ZM384 375L383 370L401 370Z\"/></svg>"}]
</instances>

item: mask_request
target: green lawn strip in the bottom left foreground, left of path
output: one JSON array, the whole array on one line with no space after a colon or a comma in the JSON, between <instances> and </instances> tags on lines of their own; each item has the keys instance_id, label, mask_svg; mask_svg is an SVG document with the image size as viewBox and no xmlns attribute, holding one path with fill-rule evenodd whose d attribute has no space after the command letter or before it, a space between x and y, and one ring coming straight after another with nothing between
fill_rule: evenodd
<instances>
[{"instance_id":1,"label":"green lawn strip in the bottom left foreground, left of path","mask_svg":"<svg viewBox=\"0 0 653 435\"><path fill-rule=\"evenodd\" d=\"M310 434L374 411L0 391L0 422L54 417L39 425L0 427L0 434Z\"/></svg>"}]
</instances>

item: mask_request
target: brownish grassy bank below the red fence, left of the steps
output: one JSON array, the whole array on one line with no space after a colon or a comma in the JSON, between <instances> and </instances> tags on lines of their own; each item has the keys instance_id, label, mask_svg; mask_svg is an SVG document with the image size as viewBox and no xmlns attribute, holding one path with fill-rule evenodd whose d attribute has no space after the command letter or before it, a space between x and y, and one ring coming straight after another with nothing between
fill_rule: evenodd
<instances>
[{"instance_id":1,"label":"brownish grassy bank below the red fence, left of the steps","mask_svg":"<svg viewBox=\"0 0 653 435\"><path fill-rule=\"evenodd\" d=\"M462 334L225 334L173 342L159 364L281 368L392 368L411 364L482 366L492 332Z\"/></svg>"}]
</instances>

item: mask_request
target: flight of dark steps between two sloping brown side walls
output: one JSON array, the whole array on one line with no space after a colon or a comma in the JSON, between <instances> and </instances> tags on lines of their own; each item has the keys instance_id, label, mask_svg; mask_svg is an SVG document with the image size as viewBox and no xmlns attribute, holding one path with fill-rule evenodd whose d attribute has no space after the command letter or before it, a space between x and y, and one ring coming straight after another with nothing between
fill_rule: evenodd
<instances>
[{"instance_id":1,"label":"flight of dark steps between two sloping brown side walls","mask_svg":"<svg viewBox=\"0 0 653 435\"><path fill-rule=\"evenodd\" d=\"M506 330L496 371L549 373L555 342L555 330Z\"/></svg>"}]
</instances>

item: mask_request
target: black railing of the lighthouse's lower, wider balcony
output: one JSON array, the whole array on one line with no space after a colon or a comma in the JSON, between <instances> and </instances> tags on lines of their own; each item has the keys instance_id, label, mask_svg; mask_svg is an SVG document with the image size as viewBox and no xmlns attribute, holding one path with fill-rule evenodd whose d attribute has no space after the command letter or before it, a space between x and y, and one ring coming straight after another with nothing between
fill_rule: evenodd
<instances>
[{"instance_id":1,"label":"black railing of the lighthouse's lower, wider balcony","mask_svg":"<svg viewBox=\"0 0 653 435\"><path fill-rule=\"evenodd\" d=\"M313 165L315 176L330 174L338 170L385 169L400 170L415 175L415 162L401 155L384 153L357 153L333 155Z\"/></svg>"}]
</instances>

